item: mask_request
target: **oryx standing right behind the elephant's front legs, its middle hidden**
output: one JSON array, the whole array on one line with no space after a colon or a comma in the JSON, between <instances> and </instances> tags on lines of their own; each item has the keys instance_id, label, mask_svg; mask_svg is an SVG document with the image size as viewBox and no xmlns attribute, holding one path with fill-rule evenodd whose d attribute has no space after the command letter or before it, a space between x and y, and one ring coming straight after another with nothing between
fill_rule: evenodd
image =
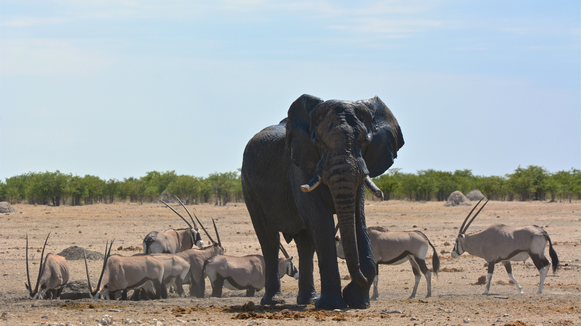
<instances>
[{"instance_id":1,"label":"oryx standing right behind the elephant's front legs, its middle hidden","mask_svg":"<svg viewBox=\"0 0 581 326\"><path fill-rule=\"evenodd\" d=\"M440 258L437 256L436 248L428 240L428 237L420 231L389 231L379 226L368 227L367 231L375 258L375 278L373 280L373 295L371 296L371 300L377 300L379 295L377 289L379 264L400 265L407 261L410 262L411 270L413 270L415 276L414 291L411 292L408 299L415 298L419 280L422 278L420 271L424 274L428 282L428 295L426 295L426 298L432 296L432 272L426 266L426 254L428 253L429 247L432 247L433 250L432 267L434 270L433 273L436 276L440 268ZM335 244L337 247L337 256L345 259L343 244L339 236L335 237Z\"/></svg>"}]
</instances>

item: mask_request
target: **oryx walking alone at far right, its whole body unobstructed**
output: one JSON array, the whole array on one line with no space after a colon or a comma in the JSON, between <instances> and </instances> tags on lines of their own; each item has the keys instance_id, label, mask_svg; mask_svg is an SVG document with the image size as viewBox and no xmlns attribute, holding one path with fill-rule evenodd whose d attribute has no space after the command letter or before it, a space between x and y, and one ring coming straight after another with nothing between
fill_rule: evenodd
<instances>
[{"instance_id":1,"label":"oryx walking alone at far right, its whole body unobstructed","mask_svg":"<svg viewBox=\"0 0 581 326\"><path fill-rule=\"evenodd\" d=\"M484 199L484 198L482 198ZM482 201L482 199L480 201ZM551 238L547 231L536 225L510 227L504 224L492 224L482 231L471 234L466 234L466 230L474 221L478 213L485 207L486 201L482 207L476 212L474 217L466 224L474 209L480 204L476 203L472 211L464 219L464 223L458 231L456 244L451 252L453 258L458 258L464 252L471 255L476 255L484 258L488 263L488 275L486 282L486 290L482 294L488 294L490 291L490 282L492 281L492 273L494 271L494 264L503 263L507 270L508 277L517 286L518 293L522 294L522 287L518 285L517 280L512 276L511 260L513 262L525 262L529 257L533 260L535 267L539 270L540 281L539 291L537 294L543 293L543 285L545 277L547 277L551 263L544 255L545 248L548 242L548 254L551 256L553 262L553 274L559 269L559 258L551 244ZM466 227L464 227L466 224Z\"/></svg>"}]
</instances>

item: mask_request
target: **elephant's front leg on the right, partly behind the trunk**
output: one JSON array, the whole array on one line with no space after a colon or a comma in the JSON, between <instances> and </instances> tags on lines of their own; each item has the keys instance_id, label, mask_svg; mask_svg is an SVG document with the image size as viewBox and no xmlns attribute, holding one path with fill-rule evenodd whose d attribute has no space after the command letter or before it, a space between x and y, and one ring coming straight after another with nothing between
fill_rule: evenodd
<instances>
[{"instance_id":1,"label":"elephant's front leg on the right, partly behind the trunk","mask_svg":"<svg viewBox=\"0 0 581 326\"><path fill-rule=\"evenodd\" d=\"M359 252L359 264L361 273L367 278L367 285L362 287L352 280L343 289L343 299L349 307L367 309L370 307L369 290L375 278L375 259L371 249L367 223L365 222L365 186L360 184L357 189L355 229L357 234L357 251Z\"/></svg>"}]
</instances>

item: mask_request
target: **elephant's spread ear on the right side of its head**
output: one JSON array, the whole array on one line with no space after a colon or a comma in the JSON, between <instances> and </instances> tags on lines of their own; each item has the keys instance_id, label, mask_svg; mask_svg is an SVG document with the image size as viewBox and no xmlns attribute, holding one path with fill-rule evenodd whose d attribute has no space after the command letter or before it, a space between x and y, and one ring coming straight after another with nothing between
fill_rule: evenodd
<instances>
[{"instance_id":1,"label":"elephant's spread ear on the right side of its head","mask_svg":"<svg viewBox=\"0 0 581 326\"><path fill-rule=\"evenodd\" d=\"M357 102L365 104L373 117L371 121L373 138L365 149L363 159L369 176L375 178L392 166L397 151L404 144L403 135L396 117L379 97Z\"/></svg>"}]
</instances>

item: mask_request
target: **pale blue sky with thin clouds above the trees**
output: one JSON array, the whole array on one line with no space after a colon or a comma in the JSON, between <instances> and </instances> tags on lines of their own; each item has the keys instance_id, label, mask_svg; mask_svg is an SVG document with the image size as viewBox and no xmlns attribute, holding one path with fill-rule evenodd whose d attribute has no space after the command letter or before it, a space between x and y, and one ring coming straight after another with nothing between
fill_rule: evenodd
<instances>
[{"instance_id":1,"label":"pale blue sky with thin clouds above the trees","mask_svg":"<svg viewBox=\"0 0 581 326\"><path fill-rule=\"evenodd\" d=\"M379 96L394 167L581 167L579 1L6 1L0 178L234 171L303 93Z\"/></svg>"}]
</instances>

